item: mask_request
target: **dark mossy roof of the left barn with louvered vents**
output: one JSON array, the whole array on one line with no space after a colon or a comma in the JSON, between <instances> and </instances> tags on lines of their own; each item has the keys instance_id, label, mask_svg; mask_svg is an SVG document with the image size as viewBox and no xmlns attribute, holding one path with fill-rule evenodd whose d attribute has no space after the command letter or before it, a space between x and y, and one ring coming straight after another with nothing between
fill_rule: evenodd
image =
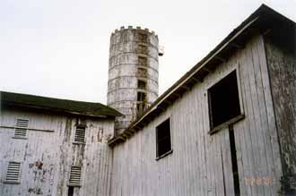
<instances>
[{"instance_id":1,"label":"dark mossy roof of the left barn with louvered vents","mask_svg":"<svg viewBox=\"0 0 296 196\"><path fill-rule=\"evenodd\" d=\"M115 117L121 115L117 110L100 103L47 98L5 91L0 91L0 102L4 106L42 109L73 115L93 117Z\"/></svg>"}]
</instances>

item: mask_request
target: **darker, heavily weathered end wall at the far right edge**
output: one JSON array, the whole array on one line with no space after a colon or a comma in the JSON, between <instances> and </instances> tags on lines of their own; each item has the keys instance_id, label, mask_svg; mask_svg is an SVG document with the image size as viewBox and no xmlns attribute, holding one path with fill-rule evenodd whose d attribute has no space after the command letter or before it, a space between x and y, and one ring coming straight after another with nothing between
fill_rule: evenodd
<instances>
[{"instance_id":1,"label":"darker, heavily weathered end wall at the far right edge","mask_svg":"<svg viewBox=\"0 0 296 196\"><path fill-rule=\"evenodd\" d=\"M289 183L296 192L296 42L295 29L289 43L266 38L266 56L270 72L274 113L281 143L283 186ZM284 43L284 44L283 44ZM292 51L289 50L292 47ZM288 180L288 181L287 181ZM289 182L290 181L290 182ZM288 187L285 187L288 188Z\"/></svg>"}]
</instances>

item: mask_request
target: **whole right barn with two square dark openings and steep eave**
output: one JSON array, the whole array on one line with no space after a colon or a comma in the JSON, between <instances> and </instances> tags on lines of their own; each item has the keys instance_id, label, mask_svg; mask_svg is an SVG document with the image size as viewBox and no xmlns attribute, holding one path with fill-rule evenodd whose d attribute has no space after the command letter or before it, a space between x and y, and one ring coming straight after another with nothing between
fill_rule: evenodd
<instances>
[{"instance_id":1,"label":"whole right barn with two square dark openings and steep eave","mask_svg":"<svg viewBox=\"0 0 296 196\"><path fill-rule=\"evenodd\" d=\"M111 195L296 195L295 37L251 14L109 141Z\"/></svg>"}]
</instances>

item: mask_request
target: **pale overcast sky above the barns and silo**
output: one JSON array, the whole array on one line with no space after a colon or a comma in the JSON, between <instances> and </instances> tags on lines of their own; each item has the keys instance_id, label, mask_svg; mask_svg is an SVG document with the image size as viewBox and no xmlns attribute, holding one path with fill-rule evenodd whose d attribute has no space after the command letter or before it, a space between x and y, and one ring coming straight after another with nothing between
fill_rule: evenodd
<instances>
[{"instance_id":1,"label":"pale overcast sky above the barns and silo","mask_svg":"<svg viewBox=\"0 0 296 196\"><path fill-rule=\"evenodd\" d=\"M296 21L296 0L1 0L0 90L105 104L110 34L133 25L164 47L161 94L262 3Z\"/></svg>"}]
</instances>

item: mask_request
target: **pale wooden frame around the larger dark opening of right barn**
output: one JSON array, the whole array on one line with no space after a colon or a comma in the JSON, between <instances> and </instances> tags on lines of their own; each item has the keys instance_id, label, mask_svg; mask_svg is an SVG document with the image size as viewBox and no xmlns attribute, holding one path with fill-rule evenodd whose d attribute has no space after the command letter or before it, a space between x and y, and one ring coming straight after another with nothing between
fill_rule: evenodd
<instances>
[{"instance_id":1,"label":"pale wooden frame around the larger dark opening of right barn","mask_svg":"<svg viewBox=\"0 0 296 196\"><path fill-rule=\"evenodd\" d=\"M227 76L231 74L231 72L236 72L236 78L237 78L237 86L238 86L238 93L239 93L239 110L240 114L232 117L231 119L227 120L226 122L223 122L222 124L218 124L214 127L212 127L212 114L211 114L211 100L210 100L210 93L209 89L211 89L215 84L219 83L223 79L225 79ZM206 86L205 90L205 95L206 95L206 103L208 105L208 116L209 116L209 134L213 134L215 132L219 132L225 127L228 127L230 124L235 124L236 122L239 122L240 120L245 118L245 110L244 110L244 105L243 105L243 97L241 93L241 83L240 83L240 75L239 75L239 64L236 64L234 67L231 69L227 70L226 72L222 72L216 80L213 80L212 82L208 83Z\"/></svg>"}]
</instances>

